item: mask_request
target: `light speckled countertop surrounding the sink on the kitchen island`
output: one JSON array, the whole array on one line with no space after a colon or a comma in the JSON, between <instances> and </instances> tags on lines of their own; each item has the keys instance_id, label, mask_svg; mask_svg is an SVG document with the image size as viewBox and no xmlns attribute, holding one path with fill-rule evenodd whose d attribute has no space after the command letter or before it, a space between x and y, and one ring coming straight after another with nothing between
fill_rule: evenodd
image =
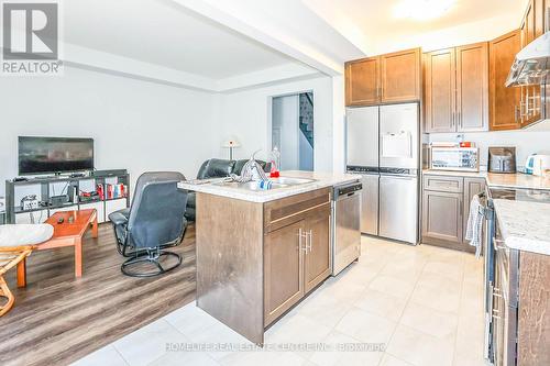
<instances>
[{"instance_id":1,"label":"light speckled countertop surrounding the sink on the kitchen island","mask_svg":"<svg viewBox=\"0 0 550 366\"><path fill-rule=\"evenodd\" d=\"M217 181L222 181L224 179L224 178L219 178L219 179L209 179L208 184L201 184L201 185L194 184L193 181L180 181L178 184L178 188L194 190L196 192L202 192L202 193L234 198L250 202L262 203L262 202L278 200L298 193L305 193L320 188L327 188L336 185L342 185L359 180L359 177L356 175L351 175L351 174L332 174L332 173L300 171L300 170L282 171L280 176L289 178L308 178L308 179L315 179L315 181L310 184L289 186L272 190L253 191L253 190L216 185Z\"/></svg>"}]
</instances>

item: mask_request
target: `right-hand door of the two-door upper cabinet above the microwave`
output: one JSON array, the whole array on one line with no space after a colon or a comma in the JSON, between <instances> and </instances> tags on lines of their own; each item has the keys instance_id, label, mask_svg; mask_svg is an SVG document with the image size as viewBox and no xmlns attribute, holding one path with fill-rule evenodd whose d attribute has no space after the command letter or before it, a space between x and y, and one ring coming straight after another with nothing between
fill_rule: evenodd
<instances>
[{"instance_id":1,"label":"right-hand door of the two-door upper cabinet above the microwave","mask_svg":"<svg viewBox=\"0 0 550 366\"><path fill-rule=\"evenodd\" d=\"M457 47L457 113L459 132L488 130L488 46Z\"/></svg>"}]
</instances>

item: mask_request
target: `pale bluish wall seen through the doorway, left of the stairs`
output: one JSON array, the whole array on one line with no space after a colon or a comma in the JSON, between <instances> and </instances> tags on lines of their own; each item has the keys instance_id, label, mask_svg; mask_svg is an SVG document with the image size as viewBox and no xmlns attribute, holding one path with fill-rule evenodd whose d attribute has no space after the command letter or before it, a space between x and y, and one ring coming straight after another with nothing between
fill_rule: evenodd
<instances>
[{"instance_id":1,"label":"pale bluish wall seen through the doorway, left of the stairs","mask_svg":"<svg viewBox=\"0 0 550 366\"><path fill-rule=\"evenodd\" d=\"M272 124L280 136L280 144L277 146L280 152L280 170L297 170L299 167L298 123L298 95L273 98ZM274 138L272 143L276 143Z\"/></svg>"}]
</instances>

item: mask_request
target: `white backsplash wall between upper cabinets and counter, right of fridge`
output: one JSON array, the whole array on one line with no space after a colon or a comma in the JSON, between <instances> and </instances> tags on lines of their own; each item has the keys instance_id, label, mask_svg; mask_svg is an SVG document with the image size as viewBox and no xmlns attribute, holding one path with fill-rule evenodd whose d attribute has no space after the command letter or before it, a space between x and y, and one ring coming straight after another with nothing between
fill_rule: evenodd
<instances>
[{"instance_id":1,"label":"white backsplash wall between upper cabinets and counter, right of fridge","mask_svg":"<svg viewBox=\"0 0 550 366\"><path fill-rule=\"evenodd\" d=\"M457 141L457 133L430 134L430 142ZM516 146L516 164L524 167L527 156L534 153L550 153L550 131L495 131L464 133L464 141L480 147L480 165L487 165L490 146Z\"/></svg>"}]
</instances>

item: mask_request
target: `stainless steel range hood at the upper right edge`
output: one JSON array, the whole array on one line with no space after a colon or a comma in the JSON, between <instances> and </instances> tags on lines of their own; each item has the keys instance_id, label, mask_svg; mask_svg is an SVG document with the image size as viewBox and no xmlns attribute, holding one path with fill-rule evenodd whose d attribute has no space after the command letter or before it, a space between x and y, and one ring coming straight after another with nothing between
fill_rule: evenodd
<instances>
[{"instance_id":1,"label":"stainless steel range hood at the upper right edge","mask_svg":"<svg viewBox=\"0 0 550 366\"><path fill-rule=\"evenodd\" d=\"M550 31L529 43L516 55L506 87L546 85L550 70Z\"/></svg>"}]
</instances>

